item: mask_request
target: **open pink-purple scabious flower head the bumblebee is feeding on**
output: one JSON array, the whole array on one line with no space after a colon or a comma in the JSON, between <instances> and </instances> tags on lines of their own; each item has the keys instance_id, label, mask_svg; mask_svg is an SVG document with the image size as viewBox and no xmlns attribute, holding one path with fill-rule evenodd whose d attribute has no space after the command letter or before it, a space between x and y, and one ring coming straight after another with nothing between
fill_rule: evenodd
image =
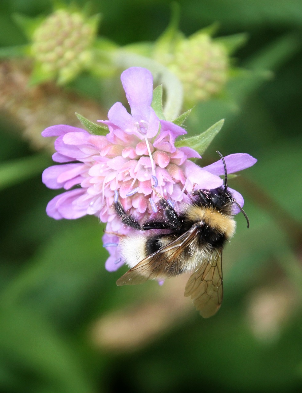
<instances>
[{"instance_id":1,"label":"open pink-purple scabious flower head the bumblebee is feeding on","mask_svg":"<svg viewBox=\"0 0 302 393\"><path fill-rule=\"evenodd\" d=\"M49 188L67 190L48 203L46 212L57 220L88 214L107 222L103 243L110 253L105 264L109 271L124 263L119 237L134 231L121 224L112 208L116 198L126 211L144 221L156 214L158 194L177 210L180 202L189 200L194 184L200 189L217 188L223 184L219 175L224 174L221 160L201 168L188 160L201 158L195 150L175 147L175 139L186 131L155 114L149 70L129 68L122 73L121 81L131 114L122 103L115 103L108 120L99 120L108 126L107 135L92 135L68 125L55 125L42 132L45 137L57 136L53 161L60 163L45 169L42 181ZM234 173L256 160L238 153L226 156L225 162L228 173ZM231 191L243 206L242 196Z\"/></svg>"}]
</instances>

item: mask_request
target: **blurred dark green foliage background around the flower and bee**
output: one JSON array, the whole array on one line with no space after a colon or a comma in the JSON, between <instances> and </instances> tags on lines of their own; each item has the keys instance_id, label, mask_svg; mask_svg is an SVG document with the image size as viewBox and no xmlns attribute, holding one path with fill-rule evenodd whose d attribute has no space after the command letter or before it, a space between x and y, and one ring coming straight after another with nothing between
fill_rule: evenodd
<instances>
[{"instance_id":1,"label":"blurred dark green foliage background around the flower and bee","mask_svg":"<svg viewBox=\"0 0 302 393\"><path fill-rule=\"evenodd\" d=\"M155 40L169 22L169 1L90 3L103 15L99 34L119 45ZM247 230L236 217L224 252L223 305L203 320L183 300L183 282L117 287L122 271L104 268L103 226L95 217L46 215L58 193L41 182L51 154L37 153L1 112L1 392L302 391L302 4L179 4L187 36L217 21L217 35L249 37L234 62L250 74L230 86L232 100L199 103L186 120L193 135L225 118L203 165L217 160L217 149L258 159L229 182L243 194L251 224ZM0 2L0 45L26 43L13 13L51 11L48 0ZM112 102L89 81L77 79L79 94L108 110Z\"/></svg>"}]
</instances>

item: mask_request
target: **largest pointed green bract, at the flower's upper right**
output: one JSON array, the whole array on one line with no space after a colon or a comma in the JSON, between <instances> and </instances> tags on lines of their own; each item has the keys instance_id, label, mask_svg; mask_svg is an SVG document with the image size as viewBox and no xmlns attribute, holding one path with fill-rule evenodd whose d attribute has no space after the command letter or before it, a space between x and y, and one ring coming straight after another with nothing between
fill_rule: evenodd
<instances>
[{"instance_id":1,"label":"largest pointed green bract, at the flower's upper right","mask_svg":"<svg viewBox=\"0 0 302 393\"><path fill-rule=\"evenodd\" d=\"M183 138L175 142L176 147L191 147L199 152L199 154L203 154L218 132L221 130L223 123L225 122L224 119L217 121L212 127L204 131L202 134L192 136L190 138Z\"/></svg>"}]
</instances>

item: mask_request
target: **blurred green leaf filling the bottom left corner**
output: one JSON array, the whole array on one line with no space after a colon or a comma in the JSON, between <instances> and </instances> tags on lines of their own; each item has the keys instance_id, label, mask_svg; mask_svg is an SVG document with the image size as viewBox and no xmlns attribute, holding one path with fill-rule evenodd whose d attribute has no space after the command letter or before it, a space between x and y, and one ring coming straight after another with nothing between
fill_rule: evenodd
<instances>
[{"instance_id":1,"label":"blurred green leaf filling the bottom left corner","mask_svg":"<svg viewBox=\"0 0 302 393\"><path fill-rule=\"evenodd\" d=\"M7 389L21 385L22 391L32 393L94 391L77 353L48 323L28 309L0 310L0 353Z\"/></svg>"}]
</instances>

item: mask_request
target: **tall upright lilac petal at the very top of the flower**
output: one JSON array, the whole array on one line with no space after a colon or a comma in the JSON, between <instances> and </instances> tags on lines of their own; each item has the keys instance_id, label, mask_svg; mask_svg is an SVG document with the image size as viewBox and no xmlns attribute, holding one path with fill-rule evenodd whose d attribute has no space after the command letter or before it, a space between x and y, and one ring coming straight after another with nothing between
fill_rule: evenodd
<instances>
[{"instance_id":1,"label":"tall upright lilac petal at the very top of the flower","mask_svg":"<svg viewBox=\"0 0 302 393\"><path fill-rule=\"evenodd\" d=\"M146 68L131 67L122 73L121 81L132 116L136 120L149 120L146 118L146 112L153 97L152 73ZM147 117L149 118L149 113Z\"/></svg>"}]
</instances>

